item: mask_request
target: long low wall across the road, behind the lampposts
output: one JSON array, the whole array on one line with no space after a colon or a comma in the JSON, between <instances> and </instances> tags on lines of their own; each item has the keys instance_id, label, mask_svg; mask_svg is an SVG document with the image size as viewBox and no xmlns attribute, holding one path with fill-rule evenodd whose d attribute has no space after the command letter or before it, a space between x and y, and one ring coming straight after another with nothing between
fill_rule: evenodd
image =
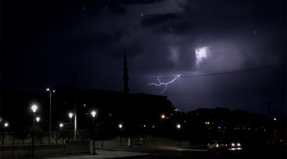
<instances>
[{"instance_id":1,"label":"long low wall across the road, behind the lampposts","mask_svg":"<svg viewBox=\"0 0 287 159\"><path fill-rule=\"evenodd\" d=\"M131 141L132 146L139 146L139 141ZM170 147L179 146L179 141L142 141L143 147ZM189 141L180 141L181 146L190 146ZM96 146L102 146L102 141L96 141ZM121 146L121 141L103 141L104 147L118 147ZM128 141L122 141L122 146L129 146Z\"/></svg>"}]
</instances>

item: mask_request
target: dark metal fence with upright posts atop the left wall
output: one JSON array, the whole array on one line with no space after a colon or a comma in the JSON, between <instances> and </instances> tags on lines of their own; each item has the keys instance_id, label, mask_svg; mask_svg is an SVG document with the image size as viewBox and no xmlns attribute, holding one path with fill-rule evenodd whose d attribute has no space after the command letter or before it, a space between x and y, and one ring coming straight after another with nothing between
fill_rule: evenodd
<instances>
[{"instance_id":1,"label":"dark metal fence with upright posts atop the left wall","mask_svg":"<svg viewBox=\"0 0 287 159\"><path fill-rule=\"evenodd\" d=\"M90 134L88 130L76 131L57 131L49 133L35 133L34 144L63 144L64 140L88 140ZM0 133L1 145L28 145L32 144L32 133Z\"/></svg>"}]
</instances>

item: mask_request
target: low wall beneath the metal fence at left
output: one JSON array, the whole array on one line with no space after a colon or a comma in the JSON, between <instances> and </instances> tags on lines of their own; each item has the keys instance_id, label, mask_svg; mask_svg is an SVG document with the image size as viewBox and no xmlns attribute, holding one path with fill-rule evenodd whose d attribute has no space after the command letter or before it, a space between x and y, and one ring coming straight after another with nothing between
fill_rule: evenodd
<instances>
[{"instance_id":1,"label":"low wall beneath the metal fence at left","mask_svg":"<svg viewBox=\"0 0 287 159\"><path fill-rule=\"evenodd\" d=\"M65 141L65 144L34 145L34 158L51 157L65 152L90 152L90 141ZM0 158L32 158L32 145L0 146Z\"/></svg>"}]
</instances>

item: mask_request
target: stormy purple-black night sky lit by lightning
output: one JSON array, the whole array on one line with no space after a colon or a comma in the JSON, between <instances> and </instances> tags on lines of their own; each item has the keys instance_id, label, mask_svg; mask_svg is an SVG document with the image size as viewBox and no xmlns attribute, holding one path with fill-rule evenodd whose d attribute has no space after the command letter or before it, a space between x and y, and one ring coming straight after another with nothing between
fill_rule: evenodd
<instances>
[{"instance_id":1,"label":"stormy purple-black night sky lit by lightning","mask_svg":"<svg viewBox=\"0 0 287 159\"><path fill-rule=\"evenodd\" d=\"M286 0L1 1L1 89L44 93L75 72L83 75L78 88L123 91L125 50L130 78L285 64L286 19ZM227 107L267 115L264 102L273 101L286 115L286 72L282 65L177 78L161 95L184 112ZM165 88L147 83L158 80L130 79L130 93Z\"/></svg>"}]
</instances>

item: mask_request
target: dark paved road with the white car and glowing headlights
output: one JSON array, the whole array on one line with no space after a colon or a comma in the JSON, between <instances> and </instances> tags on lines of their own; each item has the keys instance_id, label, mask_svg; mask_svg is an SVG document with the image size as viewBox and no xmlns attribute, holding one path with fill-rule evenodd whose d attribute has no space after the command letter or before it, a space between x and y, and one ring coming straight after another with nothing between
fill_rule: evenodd
<instances>
[{"instance_id":1,"label":"dark paved road with the white car and glowing headlights","mask_svg":"<svg viewBox=\"0 0 287 159\"><path fill-rule=\"evenodd\" d=\"M154 154L155 156L144 159L265 159L265 158L287 158L286 146L280 148L248 147L239 149L228 149L227 152L207 152L205 148L190 147L168 147L168 148L99 148L97 150L126 151Z\"/></svg>"}]
</instances>

